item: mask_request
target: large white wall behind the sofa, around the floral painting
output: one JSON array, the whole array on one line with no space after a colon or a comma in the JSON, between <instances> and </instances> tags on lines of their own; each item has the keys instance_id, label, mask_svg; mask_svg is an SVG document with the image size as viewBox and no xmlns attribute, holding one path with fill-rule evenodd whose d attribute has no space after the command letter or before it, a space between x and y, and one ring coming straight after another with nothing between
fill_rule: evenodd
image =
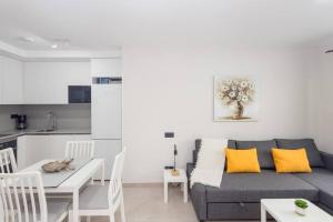
<instances>
[{"instance_id":1,"label":"large white wall behind the sofa, around the floral painting","mask_svg":"<svg viewBox=\"0 0 333 222\"><path fill-rule=\"evenodd\" d=\"M302 138L306 78L301 54L281 49L216 46L128 46L123 49L125 182L160 182L179 145L179 165L192 158L196 138L261 140ZM253 74L261 81L259 122L213 122L213 75ZM174 131L175 139L163 132Z\"/></svg>"}]
</instances>

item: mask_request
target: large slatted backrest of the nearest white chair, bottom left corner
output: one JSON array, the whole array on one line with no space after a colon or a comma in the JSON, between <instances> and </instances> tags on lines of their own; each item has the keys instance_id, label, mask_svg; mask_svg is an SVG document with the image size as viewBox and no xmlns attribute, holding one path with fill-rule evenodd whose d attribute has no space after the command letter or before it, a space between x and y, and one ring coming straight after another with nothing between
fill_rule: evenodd
<instances>
[{"instance_id":1,"label":"large slatted backrest of the nearest white chair, bottom left corner","mask_svg":"<svg viewBox=\"0 0 333 222\"><path fill-rule=\"evenodd\" d=\"M0 201L4 222L48 221L47 199L39 172L0 173Z\"/></svg>"}]
</instances>

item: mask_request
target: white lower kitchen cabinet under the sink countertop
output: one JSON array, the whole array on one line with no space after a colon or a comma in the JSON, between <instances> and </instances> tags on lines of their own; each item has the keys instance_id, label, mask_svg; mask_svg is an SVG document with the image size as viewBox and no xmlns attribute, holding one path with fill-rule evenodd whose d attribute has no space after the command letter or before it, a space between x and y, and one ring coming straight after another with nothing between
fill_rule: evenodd
<instances>
[{"instance_id":1,"label":"white lower kitchen cabinet under the sink countertop","mask_svg":"<svg viewBox=\"0 0 333 222\"><path fill-rule=\"evenodd\" d=\"M18 168L44 159L63 159L67 141L91 140L90 134L22 135L18 138Z\"/></svg>"}]
</instances>

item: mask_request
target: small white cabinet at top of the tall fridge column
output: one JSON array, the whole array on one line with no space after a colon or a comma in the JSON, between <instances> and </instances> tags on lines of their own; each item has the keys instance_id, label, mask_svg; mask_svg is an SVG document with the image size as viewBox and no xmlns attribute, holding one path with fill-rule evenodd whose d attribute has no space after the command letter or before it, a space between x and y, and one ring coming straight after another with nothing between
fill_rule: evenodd
<instances>
[{"instance_id":1,"label":"small white cabinet at top of the tall fridge column","mask_svg":"<svg viewBox=\"0 0 333 222\"><path fill-rule=\"evenodd\" d=\"M92 77L121 77L121 59L91 59Z\"/></svg>"}]
</instances>

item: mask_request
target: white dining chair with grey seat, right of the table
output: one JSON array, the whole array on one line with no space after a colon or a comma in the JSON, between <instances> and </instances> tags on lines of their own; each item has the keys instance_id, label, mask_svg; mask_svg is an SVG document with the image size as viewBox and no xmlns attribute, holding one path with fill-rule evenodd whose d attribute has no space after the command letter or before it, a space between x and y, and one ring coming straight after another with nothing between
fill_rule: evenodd
<instances>
[{"instance_id":1,"label":"white dining chair with grey seat, right of the table","mask_svg":"<svg viewBox=\"0 0 333 222\"><path fill-rule=\"evenodd\" d=\"M122 170L127 149L115 157L109 185L88 185L79 195L79 216L109 216L114 222L114 213L120 209L121 221L125 222L122 190ZM72 221L72 211L69 211Z\"/></svg>"}]
</instances>

